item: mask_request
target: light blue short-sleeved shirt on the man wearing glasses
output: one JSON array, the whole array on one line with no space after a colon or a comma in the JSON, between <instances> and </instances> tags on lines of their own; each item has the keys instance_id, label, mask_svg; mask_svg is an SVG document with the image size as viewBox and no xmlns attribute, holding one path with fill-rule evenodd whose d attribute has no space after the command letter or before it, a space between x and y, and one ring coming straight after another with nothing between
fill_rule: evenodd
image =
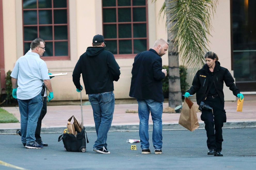
<instances>
[{"instance_id":1,"label":"light blue short-sleeved shirt on the man wearing glasses","mask_svg":"<svg viewBox=\"0 0 256 170\"><path fill-rule=\"evenodd\" d=\"M17 99L21 100L37 96L42 91L43 80L50 79L46 63L34 52L28 52L17 60L11 77L18 79Z\"/></svg>"}]
</instances>

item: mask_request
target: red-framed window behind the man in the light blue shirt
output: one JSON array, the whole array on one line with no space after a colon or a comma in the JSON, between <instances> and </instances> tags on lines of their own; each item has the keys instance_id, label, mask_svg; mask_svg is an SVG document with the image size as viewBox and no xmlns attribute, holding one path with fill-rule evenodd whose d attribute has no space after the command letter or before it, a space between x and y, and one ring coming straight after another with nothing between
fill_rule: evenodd
<instances>
[{"instance_id":1,"label":"red-framed window behind the man in the light blue shirt","mask_svg":"<svg viewBox=\"0 0 256 170\"><path fill-rule=\"evenodd\" d=\"M70 59L68 0L22 0L24 54L30 43L45 40L45 59Z\"/></svg>"}]
</instances>

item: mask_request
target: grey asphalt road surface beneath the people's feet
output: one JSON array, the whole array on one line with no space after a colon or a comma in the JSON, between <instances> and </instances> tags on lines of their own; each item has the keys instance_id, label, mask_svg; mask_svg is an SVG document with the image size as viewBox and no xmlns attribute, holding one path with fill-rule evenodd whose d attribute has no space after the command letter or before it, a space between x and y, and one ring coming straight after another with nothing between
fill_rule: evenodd
<instances>
[{"instance_id":1,"label":"grey asphalt road surface beneath the people's feet","mask_svg":"<svg viewBox=\"0 0 256 170\"><path fill-rule=\"evenodd\" d=\"M151 154L142 155L138 132L109 132L108 150L111 154L94 152L96 133L87 133L90 143L85 153L67 152L61 134L42 134L49 146L43 149L23 147L19 135L0 135L0 169L10 164L26 169L255 169L256 128L223 129L223 157L207 155L204 129L163 131L163 154L154 154L152 131L149 132ZM131 150L136 145L137 150ZM4 162L4 163L3 163Z\"/></svg>"}]
</instances>

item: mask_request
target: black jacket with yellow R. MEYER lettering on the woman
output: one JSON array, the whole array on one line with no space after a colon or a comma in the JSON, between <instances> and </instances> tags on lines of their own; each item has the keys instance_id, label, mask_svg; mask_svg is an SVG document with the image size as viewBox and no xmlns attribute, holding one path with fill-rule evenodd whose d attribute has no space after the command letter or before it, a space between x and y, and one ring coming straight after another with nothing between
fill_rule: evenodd
<instances>
[{"instance_id":1,"label":"black jacket with yellow R. MEYER lettering on the woman","mask_svg":"<svg viewBox=\"0 0 256 170\"><path fill-rule=\"evenodd\" d=\"M216 88L218 95L220 96L221 102L224 103L224 93L223 93L223 84L225 82L226 86L229 87L233 94L237 96L240 91L235 85L235 81L228 71L228 69L221 67L220 62L215 62L215 68L213 73L208 71L208 65L204 64L203 68L198 70L192 83L192 87L187 91L190 95L196 93L196 101L199 105L203 100L206 93L207 87L210 86L209 79L213 78L213 75L216 74L216 78L213 80L212 86Z\"/></svg>"}]
</instances>

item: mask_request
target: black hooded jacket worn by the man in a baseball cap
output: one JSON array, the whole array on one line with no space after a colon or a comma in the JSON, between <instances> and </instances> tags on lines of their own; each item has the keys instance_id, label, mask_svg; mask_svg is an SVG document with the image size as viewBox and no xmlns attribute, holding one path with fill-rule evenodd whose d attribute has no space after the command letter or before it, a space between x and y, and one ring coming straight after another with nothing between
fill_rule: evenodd
<instances>
[{"instance_id":1,"label":"black hooded jacket worn by the man in a baseball cap","mask_svg":"<svg viewBox=\"0 0 256 170\"><path fill-rule=\"evenodd\" d=\"M113 81L119 79L119 69L114 55L104 47L88 47L76 63L73 82L79 89L82 73L86 94L113 91Z\"/></svg>"}]
</instances>

